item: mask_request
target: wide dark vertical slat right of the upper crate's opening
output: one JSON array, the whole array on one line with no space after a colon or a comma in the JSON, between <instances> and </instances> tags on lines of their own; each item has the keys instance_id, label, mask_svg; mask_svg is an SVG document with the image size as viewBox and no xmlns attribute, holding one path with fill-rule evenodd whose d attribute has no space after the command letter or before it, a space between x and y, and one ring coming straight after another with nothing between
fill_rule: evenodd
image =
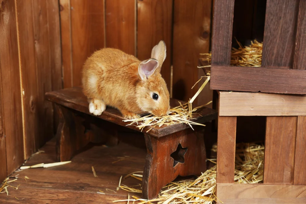
<instances>
[{"instance_id":1,"label":"wide dark vertical slat right of the upper crate's opening","mask_svg":"<svg viewBox=\"0 0 306 204\"><path fill-rule=\"evenodd\" d=\"M262 67L292 69L299 0L267 0Z\"/></svg>"}]
</instances>

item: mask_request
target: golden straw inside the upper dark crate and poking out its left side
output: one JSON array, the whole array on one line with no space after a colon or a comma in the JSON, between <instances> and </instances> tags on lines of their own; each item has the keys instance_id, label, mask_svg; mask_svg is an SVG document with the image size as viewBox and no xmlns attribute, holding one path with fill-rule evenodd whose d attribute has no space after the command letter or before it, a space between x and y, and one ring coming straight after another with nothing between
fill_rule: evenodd
<instances>
[{"instance_id":1,"label":"golden straw inside the upper dark crate and poking out its left side","mask_svg":"<svg viewBox=\"0 0 306 204\"><path fill-rule=\"evenodd\" d=\"M240 42L237 41L237 43L239 45L238 49L232 47L230 65L260 67L263 53L263 43L259 43L257 40L254 40L254 43L251 41L250 46L244 47L241 45ZM202 55L202 60L204 62L207 62L208 65L200 66L199 68L210 67L211 53L205 53L200 55Z\"/></svg>"}]
</instances>

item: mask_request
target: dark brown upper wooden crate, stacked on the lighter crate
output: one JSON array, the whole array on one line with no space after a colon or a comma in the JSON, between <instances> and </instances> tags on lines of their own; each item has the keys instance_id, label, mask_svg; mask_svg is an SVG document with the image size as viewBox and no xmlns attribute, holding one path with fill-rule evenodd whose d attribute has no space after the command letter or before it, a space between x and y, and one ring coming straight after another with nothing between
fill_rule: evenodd
<instances>
[{"instance_id":1,"label":"dark brown upper wooden crate, stacked on the lighter crate","mask_svg":"<svg viewBox=\"0 0 306 204\"><path fill-rule=\"evenodd\" d=\"M210 88L305 94L306 2L267 0L261 67L230 66L233 15L234 0L215 0Z\"/></svg>"}]
</instances>

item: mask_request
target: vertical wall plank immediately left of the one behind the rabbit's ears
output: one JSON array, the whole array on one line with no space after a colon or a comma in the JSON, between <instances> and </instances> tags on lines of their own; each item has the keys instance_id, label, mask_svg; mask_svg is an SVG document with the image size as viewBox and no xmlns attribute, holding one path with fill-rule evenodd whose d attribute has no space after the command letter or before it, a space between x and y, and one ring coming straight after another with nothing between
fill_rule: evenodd
<instances>
[{"instance_id":1,"label":"vertical wall plank immediately left of the one behind the rabbit's ears","mask_svg":"<svg viewBox=\"0 0 306 204\"><path fill-rule=\"evenodd\" d=\"M105 0L106 47L136 55L135 9L135 0Z\"/></svg>"}]
</instances>

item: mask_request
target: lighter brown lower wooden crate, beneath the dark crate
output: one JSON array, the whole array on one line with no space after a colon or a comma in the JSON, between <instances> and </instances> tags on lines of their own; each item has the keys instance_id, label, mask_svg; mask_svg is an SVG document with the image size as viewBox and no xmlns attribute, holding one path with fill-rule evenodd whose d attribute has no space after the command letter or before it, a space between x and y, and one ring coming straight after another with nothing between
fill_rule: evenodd
<instances>
[{"instance_id":1,"label":"lighter brown lower wooden crate, beneath the dark crate","mask_svg":"<svg viewBox=\"0 0 306 204\"><path fill-rule=\"evenodd\" d=\"M306 95L219 92L217 197L306 203ZM237 116L267 116L263 183L234 183Z\"/></svg>"}]
</instances>

